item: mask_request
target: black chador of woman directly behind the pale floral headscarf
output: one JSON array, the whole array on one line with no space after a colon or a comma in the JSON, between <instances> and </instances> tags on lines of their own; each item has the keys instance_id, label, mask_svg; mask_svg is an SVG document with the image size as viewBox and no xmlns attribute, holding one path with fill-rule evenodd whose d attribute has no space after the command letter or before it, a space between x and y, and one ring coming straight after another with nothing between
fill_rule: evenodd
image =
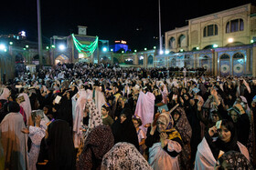
<instances>
[{"instance_id":1,"label":"black chador of woman directly behind the pale floral headscarf","mask_svg":"<svg viewBox=\"0 0 256 170\"><path fill-rule=\"evenodd\" d=\"M123 124L121 124L120 116L112 124L114 144L127 142L133 144L139 150L138 135L132 121L133 113L130 108L124 108L122 114L126 116L126 120Z\"/></svg>"}]
</instances>

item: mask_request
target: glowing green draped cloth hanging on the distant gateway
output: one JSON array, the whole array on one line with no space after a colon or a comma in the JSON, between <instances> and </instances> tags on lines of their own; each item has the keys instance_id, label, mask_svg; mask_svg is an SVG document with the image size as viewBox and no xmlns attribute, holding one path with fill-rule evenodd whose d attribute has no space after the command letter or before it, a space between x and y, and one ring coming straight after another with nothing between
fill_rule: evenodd
<instances>
[{"instance_id":1,"label":"glowing green draped cloth hanging on the distant gateway","mask_svg":"<svg viewBox=\"0 0 256 170\"><path fill-rule=\"evenodd\" d=\"M82 45L80 44L79 40L75 37L74 34L72 34L74 45L76 46L76 49L79 51L79 53L82 53L84 56L90 56L93 54L95 49L98 46L99 37L96 36L96 39L91 45Z\"/></svg>"}]
</instances>

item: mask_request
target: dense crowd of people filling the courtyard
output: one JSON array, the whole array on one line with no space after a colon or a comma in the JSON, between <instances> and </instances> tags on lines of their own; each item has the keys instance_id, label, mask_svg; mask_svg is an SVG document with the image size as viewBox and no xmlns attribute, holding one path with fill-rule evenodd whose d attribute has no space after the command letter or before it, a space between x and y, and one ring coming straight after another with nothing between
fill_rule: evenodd
<instances>
[{"instance_id":1,"label":"dense crowd of people filling the courtyard","mask_svg":"<svg viewBox=\"0 0 256 170\"><path fill-rule=\"evenodd\" d=\"M0 169L256 167L256 80L168 70L59 64L1 85Z\"/></svg>"}]
</instances>

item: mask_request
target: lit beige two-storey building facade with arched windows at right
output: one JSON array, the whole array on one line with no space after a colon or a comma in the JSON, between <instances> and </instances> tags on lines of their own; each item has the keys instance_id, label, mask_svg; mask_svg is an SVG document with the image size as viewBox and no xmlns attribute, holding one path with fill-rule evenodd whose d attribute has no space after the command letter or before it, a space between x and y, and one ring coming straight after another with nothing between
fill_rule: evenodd
<instances>
[{"instance_id":1,"label":"lit beige two-storey building facade with arched windows at right","mask_svg":"<svg viewBox=\"0 0 256 170\"><path fill-rule=\"evenodd\" d=\"M188 20L165 32L168 55L156 66L204 66L214 75L256 76L256 6L248 4Z\"/></svg>"}]
</instances>

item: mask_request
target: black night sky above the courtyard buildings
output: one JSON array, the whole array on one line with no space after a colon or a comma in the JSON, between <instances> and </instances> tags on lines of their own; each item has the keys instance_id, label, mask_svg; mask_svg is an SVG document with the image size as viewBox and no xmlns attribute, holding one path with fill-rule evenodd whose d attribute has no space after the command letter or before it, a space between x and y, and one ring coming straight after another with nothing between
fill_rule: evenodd
<instances>
[{"instance_id":1,"label":"black night sky above the courtyard buildings","mask_svg":"<svg viewBox=\"0 0 256 170\"><path fill-rule=\"evenodd\" d=\"M162 35L187 25L186 20L209 15L255 0L161 0ZM0 35L27 32L37 41L37 0L1 3ZM125 40L132 49L158 45L158 0L41 0L43 42L52 35L77 34L77 25L88 26L88 35Z\"/></svg>"}]
</instances>

